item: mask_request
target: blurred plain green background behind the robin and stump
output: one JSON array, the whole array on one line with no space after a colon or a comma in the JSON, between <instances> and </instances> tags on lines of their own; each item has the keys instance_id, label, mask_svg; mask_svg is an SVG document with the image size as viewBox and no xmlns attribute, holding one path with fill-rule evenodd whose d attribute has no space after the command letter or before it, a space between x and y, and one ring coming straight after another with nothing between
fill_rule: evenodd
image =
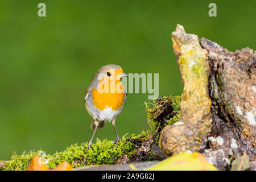
<instances>
[{"instance_id":1,"label":"blurred plain green background behind the robin and stump","mask_svg":"<svg viewBox=\"0 0 256 182\"><path fill-rule=\"evenodd\" d=\"M46 17L38 16L40 2ZM217 17L208 16L210 2ZM177 23L230 51L255 49L255 2L1 0L0 159L89 141L84 94L102 65L159 73L159 96L180 95L171 47ZM116 122L119 136L148 129L144 101L147 94L128 94ZM96 137L114 140L113 126L107 123Z\"/></svg>"}]
</instances>

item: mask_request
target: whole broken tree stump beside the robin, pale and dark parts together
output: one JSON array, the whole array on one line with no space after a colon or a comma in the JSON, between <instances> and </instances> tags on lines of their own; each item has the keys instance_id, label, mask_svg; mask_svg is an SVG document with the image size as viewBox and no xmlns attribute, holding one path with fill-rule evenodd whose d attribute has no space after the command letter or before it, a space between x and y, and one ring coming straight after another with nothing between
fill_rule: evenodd
<instances>
[{"instance_id":1,"label":"whole broken tree stump beside the robin, pale and dark parts together","mask_svg":"<svg viewBox=\"0 0 256 182\"><path fill-rule=\"evenodd\" d=\"M222 170L246 152L254 165L256 52L199 42L179 24L172 42L184 89L180 121L164 127L160 149L167 156L199 151Z\"/></svg>"}]
</instances>

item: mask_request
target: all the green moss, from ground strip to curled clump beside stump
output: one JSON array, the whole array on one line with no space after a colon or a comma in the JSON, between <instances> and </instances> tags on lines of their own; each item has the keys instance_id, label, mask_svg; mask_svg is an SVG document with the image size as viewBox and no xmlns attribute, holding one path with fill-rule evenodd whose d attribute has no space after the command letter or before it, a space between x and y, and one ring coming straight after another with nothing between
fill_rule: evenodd
<instances>
[{"instance_id":1,"label":"all the green moss, from ground strip to curled clump beside stump","mask_svg":"<svg viewBox=\"0 0 256 182\"><path fill-rule=\"evenodd\" d=\"M67 161L73 168L76 168L97 164L114 164L124 155L127 155L127 158L133 158L140 144L144 141L152 140L152 135L156 134L159 119L154 119L154 115L161 109L160 106L166 104L171 104L174 107L175 115L167 122L168 125L171 125L179 120L180 97L161 97L158 102L146 103L147 123L150 125L151 130L142 131L139 135L126 134L115 147L112 140L104 139L101 141L97 138L96 142L90 146L88 151L86 151L88 144L86 142L80 145L73 144L71 147L67 147L65 151L56 152L53 155L46 155L42 150L24 151L21 155L17 155L14 152L9 161L0 161L0 170L25 170L30 164L32 157L35 155L40 155L50 169L55 168L63 161ZM151 109L150 105L152 107ZM44 154L44 156L42 156L42 154ZM137 157L140 158L140 156ZM144 160L153 159L154 156L152 156L151 151L148 151L148 158Z\"/></svg>"}]
</instances>

